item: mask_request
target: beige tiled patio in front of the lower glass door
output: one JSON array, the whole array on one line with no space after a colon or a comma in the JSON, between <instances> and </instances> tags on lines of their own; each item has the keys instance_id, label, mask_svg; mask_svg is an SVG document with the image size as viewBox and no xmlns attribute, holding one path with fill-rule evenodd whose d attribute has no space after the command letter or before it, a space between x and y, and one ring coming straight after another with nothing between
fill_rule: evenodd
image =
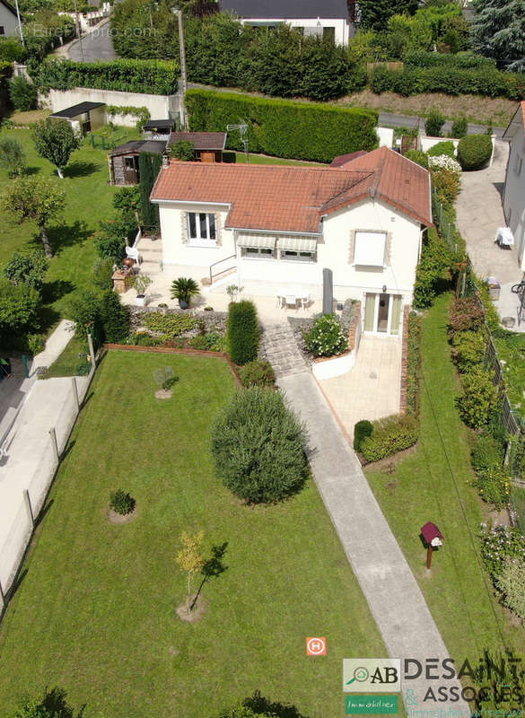
<instances>
[{"instance_id":1,"label":"beige tiled patio in front of the lower glass door","mask_svg":"<svg viewBox=\"0 0 525 718\"><path fill-rule=\"evenodd\" d=\"M362 419L373 421L398 414L403 346L392 337L361 337L354 367L321 381L322 390L348 436Z\"/></svg>"}]
</instances>

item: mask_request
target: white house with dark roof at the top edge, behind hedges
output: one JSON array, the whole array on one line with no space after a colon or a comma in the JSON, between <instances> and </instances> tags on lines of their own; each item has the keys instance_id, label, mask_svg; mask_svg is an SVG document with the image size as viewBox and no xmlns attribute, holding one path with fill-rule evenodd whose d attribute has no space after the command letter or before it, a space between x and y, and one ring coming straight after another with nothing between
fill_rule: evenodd
<instances>
[{"instance_id":1,"label":"white house with dark roof at the top edge, behind hedges","mask_svg":"<svg viewBox=\"0 0 525 718\"><path fill-rule=\"evenodd\" d=\"M354 35L346 0L221 0L221 10L235 13L255 27L276 27L286 22L305 36L332 39L347 45Z\"/></svg>"}]
</instances>

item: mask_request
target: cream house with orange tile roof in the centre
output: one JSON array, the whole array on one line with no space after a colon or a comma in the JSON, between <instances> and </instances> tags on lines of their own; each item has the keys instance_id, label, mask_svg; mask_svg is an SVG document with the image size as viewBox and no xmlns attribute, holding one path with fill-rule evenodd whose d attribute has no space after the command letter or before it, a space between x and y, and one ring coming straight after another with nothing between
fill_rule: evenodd
<instances>
[{"instance_id":1,"label":"cream house with orange tile roof in the centre","mask_svg":"<svg viewBox=\"0 0 525 718\"><path fill-rule=\"evenodd\" d=\"M314 300L329 268L337 301L363 302L365 331L399 335L432 224L428 171L387 147L337 168L164 165L151 195L164 273L253 296L301 285ZM227 268L236 276L222 279Z\"/></svg>"}]
</instances>

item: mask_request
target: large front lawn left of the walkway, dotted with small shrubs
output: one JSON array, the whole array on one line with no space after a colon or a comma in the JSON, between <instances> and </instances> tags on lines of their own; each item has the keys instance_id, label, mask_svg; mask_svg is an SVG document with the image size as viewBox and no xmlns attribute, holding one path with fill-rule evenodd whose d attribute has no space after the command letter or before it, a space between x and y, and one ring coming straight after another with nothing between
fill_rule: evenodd
<instances>
[{"instance_id":1,"label":"large front lawn left of the walkway, dotted with small shrubs","mask_svg":"<svg viewBox=\"0 0 525 718\"><path fill-rule=\"evenodd\" d=\"M167 401L153 397L163 365L179 377ZM59 685L86 718L214 716L256 689L332 718L341 659L386 655L313 482L248 508L214 477L209 425L233 386L218 359L105 357L0 626L1 715ZM121 526L107 518L118 488L138 509ZM227 570L188 625L175 558L181 532L199 529L206 553L228 542ZM327 637L327 657L306 657L310 635Z\"/></svg>"}]
</instances>

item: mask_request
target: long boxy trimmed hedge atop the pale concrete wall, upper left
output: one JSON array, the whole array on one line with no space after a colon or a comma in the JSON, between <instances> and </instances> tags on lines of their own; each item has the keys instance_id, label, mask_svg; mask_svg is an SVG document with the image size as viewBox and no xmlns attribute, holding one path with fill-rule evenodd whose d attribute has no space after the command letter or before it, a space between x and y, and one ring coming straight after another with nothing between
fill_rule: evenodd
<instances>
[{"instance_id":1,"label":"long boxy trimmed hedge atop the pale concrete wall, upper left","mask_svg":"<svg viewBox=\"0 0 525 718\"><path fill-rule=\"evenodd\" d=\"M164 60L112 60L74 62L47 60L39 65L34 79L40 90L71 90L92 87L97 90L145 92L171 95L179 88L179 65Z\"/></svg>"}]
</instances>

